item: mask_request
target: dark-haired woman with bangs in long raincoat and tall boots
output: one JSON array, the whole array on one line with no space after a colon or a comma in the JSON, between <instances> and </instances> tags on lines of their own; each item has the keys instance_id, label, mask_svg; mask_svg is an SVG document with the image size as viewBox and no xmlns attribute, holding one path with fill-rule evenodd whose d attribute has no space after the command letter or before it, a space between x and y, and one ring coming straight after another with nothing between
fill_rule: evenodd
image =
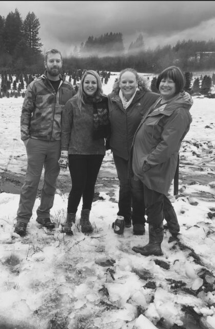
<instances>
[{"instance_id":1,"label":"dark-haired woman with bangs in long raincoat and tall boots","mask_svg":"<svg viewBox=\"0 0 215 329\"><path fill-rule=\"evenodd\" d=\"M185 100L182 89L185 77L179 67L170 66L157 79L161 97L144 115L132 143L134 179L144 189L149 243L133 247L143 255L161 255L163 241L164 198L177 168L181 142L192 121L191 100Z\"/></svg>"}]
</instances>

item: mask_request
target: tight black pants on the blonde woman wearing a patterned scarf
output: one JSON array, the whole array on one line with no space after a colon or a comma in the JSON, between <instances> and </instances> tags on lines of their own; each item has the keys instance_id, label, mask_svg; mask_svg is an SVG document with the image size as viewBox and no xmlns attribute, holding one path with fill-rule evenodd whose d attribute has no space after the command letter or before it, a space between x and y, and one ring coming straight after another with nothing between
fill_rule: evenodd
<instances>
[{"instance_id":1,"label":"tight black pants on the blonde woman wearing a patterned scarf","mask_svg":"<svg viewBox=\"0 0 215 329\"><path fill-rule=\"evenodd\" d=\"M82 209L91 209L95 182L104 155L69 154L69 171L72 188L68 197L68 213L76 213L83 198Z\"/></svg>"}]
</instances>

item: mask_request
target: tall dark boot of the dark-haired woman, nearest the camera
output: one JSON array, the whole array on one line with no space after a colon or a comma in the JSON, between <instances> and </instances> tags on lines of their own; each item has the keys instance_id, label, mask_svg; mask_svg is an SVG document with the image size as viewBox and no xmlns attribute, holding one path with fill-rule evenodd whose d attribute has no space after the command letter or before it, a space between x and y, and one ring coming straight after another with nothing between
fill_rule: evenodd
<instances>
[{"instance_id":1,"label":"tall dark boot of the dark-haired woman, nearest the camera","mask_svg":"<svg viewBox=\"0 0 215 329\"><path fill-rule=\"evenodd\" d=\"M154 228L152 225L149 225L149 243L144 247L133 247L132 250L139 252L144 256L162 255L161 243L164 237L163 223L158 228Z\"/></svg>"}]
</instances>

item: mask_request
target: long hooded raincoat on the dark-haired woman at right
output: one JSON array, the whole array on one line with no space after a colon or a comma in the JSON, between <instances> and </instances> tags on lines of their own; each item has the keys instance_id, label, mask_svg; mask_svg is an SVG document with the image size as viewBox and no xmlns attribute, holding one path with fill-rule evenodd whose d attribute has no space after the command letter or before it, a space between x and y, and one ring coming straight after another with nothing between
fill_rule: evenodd
<instances>
[{"instance_id":1,"label":"long hooded raincoat on the dark-haired woman at right","mask_svg":"<svg viewBox=\"0 0 215 329\"><path fill-rule=\"evenodd\" d=\"M192 121L192 100L176 95L166 105L152 105L143 117L132 143L132 169L150 189L167 194L177 168L181 142Z\"/></svg>"}]
</instances>

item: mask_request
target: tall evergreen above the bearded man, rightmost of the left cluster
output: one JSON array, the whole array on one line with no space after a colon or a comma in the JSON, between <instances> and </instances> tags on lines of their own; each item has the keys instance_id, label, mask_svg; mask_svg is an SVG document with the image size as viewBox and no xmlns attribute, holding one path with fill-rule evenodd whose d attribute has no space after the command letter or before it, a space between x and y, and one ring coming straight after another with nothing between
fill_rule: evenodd
<instances>
[{"instance_id":1,"label":"tall evergreen above the bearded man, rightmost of the left cluster","mask_svg":"<svg viewBox=\"0 0 215 329\"><path fill-rule=\"evenodd\" d=\"M40 42L41 38L38 37L40 26L40 21L34 12L29 11L23 22L23 31L27 45L32 49L33 53L41 52L41 47L43 46Z\"/></svg>"}]
</instances>

